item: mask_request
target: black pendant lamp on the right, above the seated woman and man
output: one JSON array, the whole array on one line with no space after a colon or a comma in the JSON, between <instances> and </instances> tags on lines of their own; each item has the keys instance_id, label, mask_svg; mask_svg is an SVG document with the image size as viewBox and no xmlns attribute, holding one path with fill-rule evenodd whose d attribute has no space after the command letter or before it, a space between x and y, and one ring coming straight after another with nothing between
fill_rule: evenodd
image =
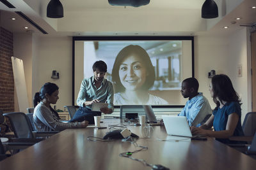
<instances>
[{"instance_id":1,"label":"black pendant lamp on the right, above the seated woman and man","mask_svg":"<svg viewBox=\"0 0 256 170\"><path fill-rule=\"evenodd\" d=\"M213 0L205 0L202 6L202 18L219 17L218 6Z\"/></svg>"}]
</instances>

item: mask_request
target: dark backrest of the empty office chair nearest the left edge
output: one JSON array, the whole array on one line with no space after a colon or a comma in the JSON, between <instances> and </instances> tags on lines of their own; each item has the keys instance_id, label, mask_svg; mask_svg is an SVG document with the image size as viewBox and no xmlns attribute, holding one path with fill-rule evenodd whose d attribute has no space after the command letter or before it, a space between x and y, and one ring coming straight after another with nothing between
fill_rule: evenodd
<instances>
[{"instance_id":1,"label":"dark backrest of the empty office chair nearest the left edge","mask_svg":"<svg viewBox=\"0 0 256 170\"><path fill-rule=\"evenodd\" d=\"M32 128L25 113L12 112L3 115L10 119L15 138L33 138Z\"/></svg>"}]
</instances>

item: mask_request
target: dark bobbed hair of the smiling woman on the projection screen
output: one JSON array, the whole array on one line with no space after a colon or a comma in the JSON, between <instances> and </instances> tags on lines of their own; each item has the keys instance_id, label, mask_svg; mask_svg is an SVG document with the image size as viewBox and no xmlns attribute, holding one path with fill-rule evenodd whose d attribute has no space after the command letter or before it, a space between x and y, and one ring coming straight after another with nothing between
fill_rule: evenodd
<instances>
[{"instance_id":1,"label":"dark bobbed hair of the smiling woman on the projection screen","mask_svg":"<svg viewBox=\"0 0 256 170\"><path fill-rule=\"evenodd\" d=\"M120 78L119 78L119 69L121 62L126 58L133 54L140 54L141 60L143 60L143 65L146 67L148 76L146 78L145 83L143 84L143 89L148 90L152 85L154 85L155 81L155 71L154 67L152 65L152 62L150 60L150 57L148 56L148 53L146 50L144 50L141 46L138 45L129 45L125 46L116 56L115 63L112 70L112 80L114 84L115 93L116 92L124 92L125 87L122 85Z\"/></svg>"}]
</instances>

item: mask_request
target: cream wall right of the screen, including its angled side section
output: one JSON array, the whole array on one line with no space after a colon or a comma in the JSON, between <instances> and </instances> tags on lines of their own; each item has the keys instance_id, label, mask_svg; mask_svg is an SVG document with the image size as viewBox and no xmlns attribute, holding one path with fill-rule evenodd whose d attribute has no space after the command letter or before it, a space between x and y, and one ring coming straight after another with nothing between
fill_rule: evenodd
<instances>
[{"instance_id":1,"label":"cream wall right of the screen, including its angled side section","mask_svg":"<svg viewBox=\"0 0 256 170\"><path fill-rule=\"evenodd\" d=\"M195 38L195 77L200 83L199 91L204 92L211 107L215 104L209 94L208 72L211 69L216 74L227 74L233 83L234 89L242 100L242 122L245 114L251 110L248 95L250 95L250 82L248 80L248 38L246 28L235 32L229 37L198 36ZM237 66L242 66L242 77L237 76Z\"/></svg>"}]
</instances>

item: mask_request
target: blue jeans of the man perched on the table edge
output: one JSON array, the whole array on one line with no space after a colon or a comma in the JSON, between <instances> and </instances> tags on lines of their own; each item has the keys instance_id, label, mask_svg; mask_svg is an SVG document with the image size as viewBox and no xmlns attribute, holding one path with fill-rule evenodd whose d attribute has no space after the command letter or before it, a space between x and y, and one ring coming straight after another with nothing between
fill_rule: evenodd
<instances>
[{"instance_id":1,"label":"blue jeans of the man perched on the table edge","mask_svg":"<svg viewBox=\"0 0 256 170\"><path fill-rule=\"evenodd\" d=\"M79 107L74 117L68 122L83 122L84 120L87 120L89 124L94 124L94 116L101 116L101 112L92 111L86 107Z\"/></svg>"}]
</instances>

